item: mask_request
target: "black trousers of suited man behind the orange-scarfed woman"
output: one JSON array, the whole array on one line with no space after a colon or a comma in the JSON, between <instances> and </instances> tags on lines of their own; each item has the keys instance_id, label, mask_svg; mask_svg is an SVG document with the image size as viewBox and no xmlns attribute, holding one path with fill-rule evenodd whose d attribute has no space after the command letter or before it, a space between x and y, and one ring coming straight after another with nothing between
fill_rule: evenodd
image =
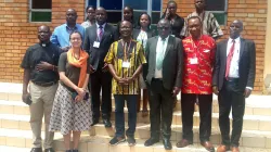
<instances>
[{"instance_id":1,"label":"black trousers of suited man behind the orange-scarfed woman","mask_svg":"<svg viewBox=\"0 0 271 152\"><path fill-rule=\"evenodd\" d=\"M109 72L98 69L90 76L90 91L93 118L100 118L100 106L102 110L102 118L109 119L112 112L112 75ZM102 89L102 103L100 102L100 92Z\"/></svg>"}]
</instances>

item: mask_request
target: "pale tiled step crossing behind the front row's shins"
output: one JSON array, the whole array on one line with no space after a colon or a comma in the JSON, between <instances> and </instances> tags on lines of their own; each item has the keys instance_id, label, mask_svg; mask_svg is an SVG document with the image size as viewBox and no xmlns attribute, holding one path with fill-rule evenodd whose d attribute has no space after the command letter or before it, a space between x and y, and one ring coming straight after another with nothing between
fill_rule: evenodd
<instances>
[{"instance_id":1,"label":"pale tiled step crossing behind the front row's shins","mask_svg":"<svg viewBox=\"0 0 271 152\"><path fill-rule=\"evenodd\" d=\"M10 106L10 105L7 105L7 106ZM4 110L8 110L8 107ZM21 106L21 107L13 106L13 110L7 111L4 114L0 113L0 128L29 130L30 117L28 114L29 114L29 110L27 106ZM212 127L214 128L219 128L218 118L219 118L219 114L212 113ZM115 113L112 112L112 122L114 122L114 119L115 119ZM128 110L125 110L125 119L126 122L128 121ZM149 116L142 117L142 114L138 113L138 123L150 124L150 117ZM172 125L182 125L180 111L177 111L173 113ZM194 113L194 126L199 126L199 113L198 112ZM245 115L244 116L243 128L246 130L271 131L270 126L271 126L271 116L261 116L261 115Z\"/></svg>"}]
</instances>

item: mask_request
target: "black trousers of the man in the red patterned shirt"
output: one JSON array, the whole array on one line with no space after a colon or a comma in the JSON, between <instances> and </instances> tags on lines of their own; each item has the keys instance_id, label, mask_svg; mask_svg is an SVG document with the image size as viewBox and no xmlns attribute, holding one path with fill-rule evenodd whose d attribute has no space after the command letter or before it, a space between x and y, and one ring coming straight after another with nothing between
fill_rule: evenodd
<instances>
[{"instance_id":1,"label":"black trousers of the man in the red patterned shirt","mask_svg":"<svg viewBox=\"0 0 271 152\"><path fill-rule=\"evenodd\" d=\"M198 100L201 117L199 140L209 141L211 132L212 94L181 93L182 138L191 143L193 142L193 114L196 100Z\"/></svg>"}]
</instances>

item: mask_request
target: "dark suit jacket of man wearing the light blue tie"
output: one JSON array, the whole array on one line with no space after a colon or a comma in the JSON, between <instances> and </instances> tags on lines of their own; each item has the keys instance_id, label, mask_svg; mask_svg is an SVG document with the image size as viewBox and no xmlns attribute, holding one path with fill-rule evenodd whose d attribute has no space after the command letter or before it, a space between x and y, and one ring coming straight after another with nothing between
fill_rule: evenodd
<instances>
[{"instance_id":1,"label":"dark suit jacket of man wearing the light blue tie","mask_svg":"<svg viewBox=\"0 0 271 152\"><path fill-rule=\"evenodd\" d=\"M146 42L146 65L147 68L143 73L149 85L154 78L156 68L156 46L158 36L147 39ZM179 38L169 36L167 49L163 61L163 85L166 89L172 90L173 87L181 87L182 85L182 69L183 69L183 47Z\"/></svg>"}]
</instances>

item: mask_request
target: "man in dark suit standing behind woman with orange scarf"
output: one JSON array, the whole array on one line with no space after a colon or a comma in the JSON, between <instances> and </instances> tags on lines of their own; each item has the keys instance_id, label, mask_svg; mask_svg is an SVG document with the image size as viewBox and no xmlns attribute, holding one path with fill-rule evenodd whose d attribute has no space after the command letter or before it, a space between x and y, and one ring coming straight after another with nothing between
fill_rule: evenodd
<instances>
[{"instance_id":1,"label":"man in dark suit standing behind woman with orange scarf","mask_svg":"<svg viewBox=\"0 0 271 152\"><path fill-rule=\"evenodd\" d=\"M93 107L93 124L99 123L100 117L100 92L102 88L102 118L105 127L111 127L109 122L112 112L112 75L107 71L104 58L111 45L117 39L114 26L106 23L107 14L104 8L95 11L96 24L86 29L83 49L90 54L90 90Z\"/></svg>"}]
</instances>

